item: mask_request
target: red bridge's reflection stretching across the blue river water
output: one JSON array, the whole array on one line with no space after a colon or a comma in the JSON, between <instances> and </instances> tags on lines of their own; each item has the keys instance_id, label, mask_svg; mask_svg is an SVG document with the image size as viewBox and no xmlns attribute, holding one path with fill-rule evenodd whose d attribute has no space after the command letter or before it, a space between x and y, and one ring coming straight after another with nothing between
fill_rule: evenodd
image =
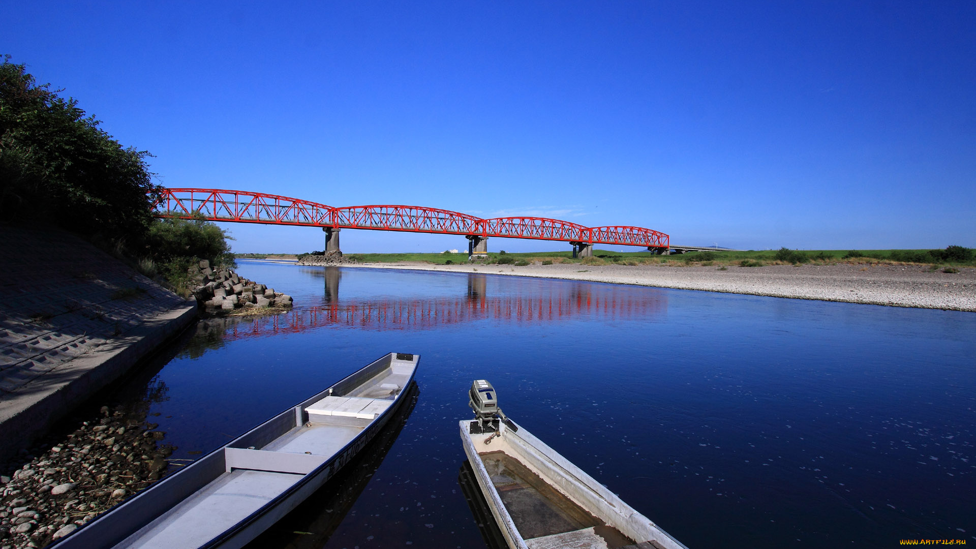
<instances>
[{"instance_id":1,"label":"red bridge's reflection stretching across the blue river water","mask_svg":"<svg viewBox=\"0 0 976 549\"><path fill-rule=\"evenodd\" d=\"M327 282L328 285L328 282ZM338 285L338 284L337 284ZM295 309L273 317L231 321L226 325L224 341L301 333L324 326L347 326L367 329L429 329L473 320L494 319L505 322L555 322L577 317L603 319L638 319L667 312L666 294L624 287L599 287L589 284L555 286L544 296L485 296L485 277L468 277L468 295L456 298L373 300L341 303L326 291L325 305ZM568 291L559 292L558 289ZM338 293L335 292L335 293Z\"/></svg>"}]
</instances>

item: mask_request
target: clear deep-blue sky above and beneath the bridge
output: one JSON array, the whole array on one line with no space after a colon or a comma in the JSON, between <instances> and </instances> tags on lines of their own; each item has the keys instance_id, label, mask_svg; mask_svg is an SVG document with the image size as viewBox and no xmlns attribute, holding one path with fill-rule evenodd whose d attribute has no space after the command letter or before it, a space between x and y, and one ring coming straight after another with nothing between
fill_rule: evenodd
<instances>
[{"instance_id":1,"label":"clear deep-blue sky above and beneath the bridge","mask_svg":"<svg viewBox=\"0 0 976 549\"><path fill-rule=\"evenodd\" d=\"M155 154L168 187L635 225L688 245L976 246L969 0L0 9L0 53ZM317 230L224 227L239 252L322 248ZM502 248L569 246L489 242Z\"/></svg>"}]
</instances>

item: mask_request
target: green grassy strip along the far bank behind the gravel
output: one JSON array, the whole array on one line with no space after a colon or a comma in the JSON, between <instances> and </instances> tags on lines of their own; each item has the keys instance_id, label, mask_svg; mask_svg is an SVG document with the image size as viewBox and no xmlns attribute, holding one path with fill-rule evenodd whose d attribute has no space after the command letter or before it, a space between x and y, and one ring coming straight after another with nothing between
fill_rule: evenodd
<instances>
[{"instance_id":1,"label":"green grassy strip along the far bank behind the gravel","mask_svg":"<svg viewBox=\"0 0 976 549\"><path fill-rule=\"evenodd\" d=\"M248 256L257 254L248 254ZM797 265L802 263L885 263L921 264L934 267L974 267L973 250L950 246L945 250L749 250L689 252L680 255L661 256L648 251L617 252L593 250L592 258L573 259L571 251L506 253L489 252L488 259L477 263L503 265L529 264L533 262L581 263L584 265L715 265L761 267L763 265ZM238 255L243 257L243 255ZM267 257L271 257L268 255ZM433 265L468 263L467 253L399 253L399 254L346 254L346 258L363 263L416 262Z\"/></svg>"}]
</instances>

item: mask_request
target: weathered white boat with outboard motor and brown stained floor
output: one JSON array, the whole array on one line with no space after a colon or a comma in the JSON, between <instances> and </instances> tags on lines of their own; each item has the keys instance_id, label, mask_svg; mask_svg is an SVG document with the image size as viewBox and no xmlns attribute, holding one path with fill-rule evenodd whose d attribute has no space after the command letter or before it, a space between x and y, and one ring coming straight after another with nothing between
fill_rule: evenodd
<instances>
[{"instance_id":1,"label":"weathered white boat with outboard motor and brown stained floor","mask_svg":"<svg viewBox=\"0 0 976 549\"><path fill-rule=\"evenodd\" d=\"M471 385L460 423L474 478L510 549L687 549L576 465L508 419L494 388Z\"/></svg>"}]
</instances>

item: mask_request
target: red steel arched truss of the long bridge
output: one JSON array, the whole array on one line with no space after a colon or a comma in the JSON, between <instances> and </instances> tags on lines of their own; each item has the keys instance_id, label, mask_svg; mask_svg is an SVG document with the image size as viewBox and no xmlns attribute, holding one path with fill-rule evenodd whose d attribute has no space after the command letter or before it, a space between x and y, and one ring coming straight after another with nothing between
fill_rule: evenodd
<instances>
[{"instance_id":1,"label":"red steel arched truss of the long bridge","mask_svg":"<svg viewBox=\"0 0 976 549\"><path fill-rule=\"evenodd\" d=\"M154 204L156 217L205 219L371 231L432 232L482 237L561 240L584 244L621 244L665 248L664 232L641 227L584 227L542 217L481 219L460 212L423 206L369 205L337 208L298 198L221 189L162 189Z\"/></svg>"}]
</instances>

